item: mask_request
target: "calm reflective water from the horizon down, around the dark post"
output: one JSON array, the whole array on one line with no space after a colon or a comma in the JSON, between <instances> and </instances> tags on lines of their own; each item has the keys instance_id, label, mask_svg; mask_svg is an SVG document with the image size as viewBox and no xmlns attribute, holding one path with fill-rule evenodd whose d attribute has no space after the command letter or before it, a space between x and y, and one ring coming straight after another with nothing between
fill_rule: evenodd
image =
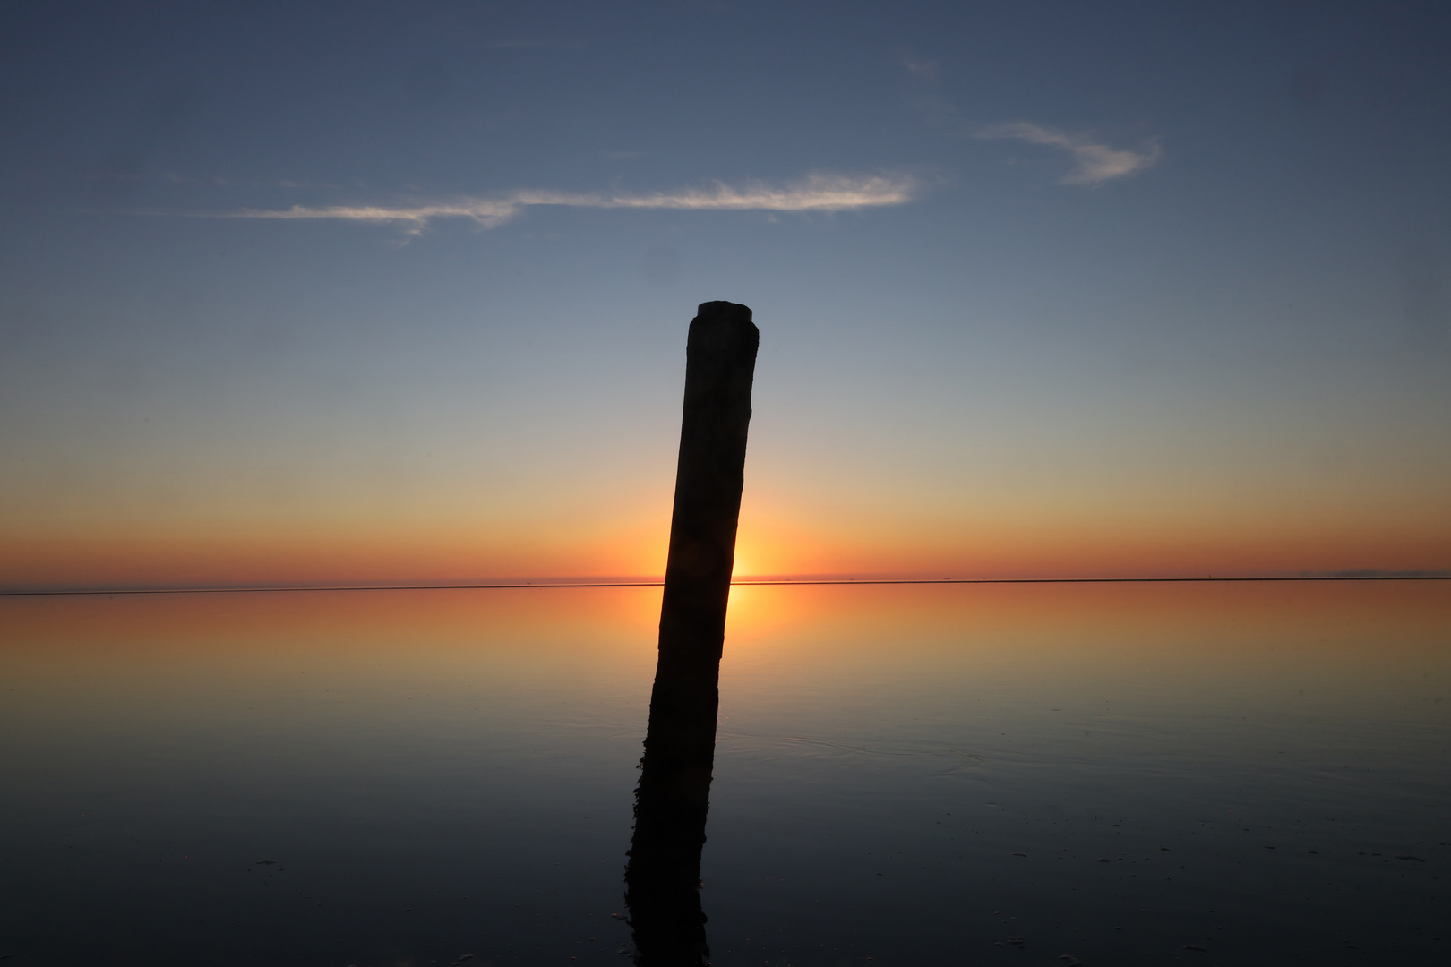
<instances>
[{"instance_id":1,"label":"calm reflective water from the horizon down, around the dark post","mask_svg":"<svg viewBox=\"0 0 1451 967\"><path fill-rule=\"evenodd\" d=\"M628 964L659 589L0 599L9 964ZM1451 583L737 587L715 964L1451 963Z\"/></svg>"}]
</instances>

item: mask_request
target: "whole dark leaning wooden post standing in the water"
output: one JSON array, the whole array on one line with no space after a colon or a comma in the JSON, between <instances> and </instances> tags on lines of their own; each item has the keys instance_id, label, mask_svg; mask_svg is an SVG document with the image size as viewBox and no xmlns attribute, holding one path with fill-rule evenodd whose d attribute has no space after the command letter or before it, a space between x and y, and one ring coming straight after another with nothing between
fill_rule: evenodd
<instances>
[{"instance_id":1,"label":"whole dark leaning wooden post standing in the water","mask_svg":"<svg viewBox=\"0 0 1451 967\"><path fill-rule=\"evenodd\" d=\"M707 302L691 322L685 349L660 658L625 867L625 903L641 966L708 963L701 847L757 342L750 309Z\"/></svg>"}]
</instances>

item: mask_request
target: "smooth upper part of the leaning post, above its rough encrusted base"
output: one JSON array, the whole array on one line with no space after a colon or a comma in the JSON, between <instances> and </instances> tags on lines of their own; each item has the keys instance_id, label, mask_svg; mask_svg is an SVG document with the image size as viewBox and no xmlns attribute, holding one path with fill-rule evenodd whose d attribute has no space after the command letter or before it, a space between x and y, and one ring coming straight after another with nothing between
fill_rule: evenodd
<instances>
[{"instance_id":1,"label":"smooth upper part of the leaning post, above its rough encrusted base","mask_svg":"<svg viewBox=\"0 0 1451 967\"><path fill-rule=\"evenodd\" d=\"M686 647L720 658L759 342L746 306L705 302L691 322L662 652Z\"/></svg>"}]
</instances>

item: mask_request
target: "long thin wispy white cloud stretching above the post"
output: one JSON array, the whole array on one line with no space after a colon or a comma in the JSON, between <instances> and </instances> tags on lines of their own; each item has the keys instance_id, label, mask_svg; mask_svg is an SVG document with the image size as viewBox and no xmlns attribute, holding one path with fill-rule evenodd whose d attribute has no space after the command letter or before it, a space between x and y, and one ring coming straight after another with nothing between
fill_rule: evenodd
<instances>
[{"instance_id":1,"label":"long thin wispy white cloud stretching above the post","mask_svg":"<svg viewBox=\"0 0 1451 967\"><path fill-rule=\"evenodd\" d=\"M469 219L479 228L492 229L534 206L696 212L846 212L905 204L920 194L920 181L905 174L865 177L813 174L789 184L715 181L710 187L651 194L519 190L496 197L459 197L447 202L328 204L321 207L295 204L289 209L194 213L194 217L377 222L398 225L409 235L416 235L438 219Z\"/></svg>"}]
</instances>

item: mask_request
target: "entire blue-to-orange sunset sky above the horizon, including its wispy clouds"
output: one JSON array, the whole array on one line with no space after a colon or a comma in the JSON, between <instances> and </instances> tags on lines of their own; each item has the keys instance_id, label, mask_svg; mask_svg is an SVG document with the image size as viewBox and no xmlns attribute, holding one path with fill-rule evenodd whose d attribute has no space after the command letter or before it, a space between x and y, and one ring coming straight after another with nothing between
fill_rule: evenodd
<instances>
[{"instance_id":1,"label":"entire blue-to-orange sunset sky above the horizon, including its wispy clouds","mask_svg":"<svg viewBox=\"0 0 1451 967\"><path fill-rule=\"evenodd\" d=\"M1451 9L0 12L0 587L1451 570Z\"/></svg>"}]
</instances>

